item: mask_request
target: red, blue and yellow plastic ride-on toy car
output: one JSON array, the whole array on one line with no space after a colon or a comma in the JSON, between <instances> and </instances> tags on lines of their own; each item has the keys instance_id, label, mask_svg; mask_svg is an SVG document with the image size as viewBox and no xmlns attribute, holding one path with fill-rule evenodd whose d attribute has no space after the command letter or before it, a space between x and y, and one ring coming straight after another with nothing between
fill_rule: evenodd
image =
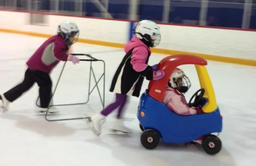
<instances>
[{"instance_id":1,"label":"red, blue and yellow plastic ride-on toy car","mask_svg":"<svg viewBox=\"0 0 256 166\"><path fill-rule=\"evenodd\" d=\"M163 103L167 82L179 65L195 65L201 89L189 100L189 106L201 106L203 113L181 116ZM208 154L216 154L222 143L222 116L217 106L213 86L205 67L207 61L194 55L171 55L158 64L165 71L161 80L149 81L148 89L140 97L138 120L143 131L140 141L146 149L154 149L160 139L165 143L197 143ZM217 136L214 133L218 133Z\"/></svg>"}]
</instances>

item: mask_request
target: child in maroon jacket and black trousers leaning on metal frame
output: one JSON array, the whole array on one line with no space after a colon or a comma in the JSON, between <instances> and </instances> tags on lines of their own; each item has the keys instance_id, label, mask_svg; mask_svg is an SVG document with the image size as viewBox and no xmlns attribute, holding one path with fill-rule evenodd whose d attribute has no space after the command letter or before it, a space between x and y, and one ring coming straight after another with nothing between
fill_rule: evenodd
<instances>
[{"instance_id":1,"label":"child in maroon jacket and black trousers leaning on metal frame","mask_svg":"<svg viewBox=\"0 0 256 166\"><path fill-rule=\"evenodd\" d=\"M49 73L59 64L59 61L79 63L80 60L77 57L67 53L78 37L79 29L74 22L67 20L60 23L57 35L46 40L27 60L24 80L0 95L3 110L9 111L9 103L15 101L37 83L40 98L40 107L37 108L37 111L46 112L52 96L52 80ZM49 109L50 113L57 111L53 107Z\"/></svg>"}]
</instances>

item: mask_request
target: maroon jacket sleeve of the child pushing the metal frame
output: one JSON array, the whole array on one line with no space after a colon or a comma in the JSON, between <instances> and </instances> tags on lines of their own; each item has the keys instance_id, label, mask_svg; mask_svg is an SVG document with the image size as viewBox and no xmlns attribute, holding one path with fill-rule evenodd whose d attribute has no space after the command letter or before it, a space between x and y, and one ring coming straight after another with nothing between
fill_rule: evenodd
<instances>
[{"instance_id":1,"label":"maroon jacket sleeve of the child pushing the metal frame","mask_svg":"<svg viewBox=\"0 0 256 166\"><path fill-rule=\"evenodd\" d=\"M69 57L69 55L66 53L66 45L63 45L61 42L55 42L53 54L56 59L62 61L67 61Z\"/></svg>"}]
</instances>

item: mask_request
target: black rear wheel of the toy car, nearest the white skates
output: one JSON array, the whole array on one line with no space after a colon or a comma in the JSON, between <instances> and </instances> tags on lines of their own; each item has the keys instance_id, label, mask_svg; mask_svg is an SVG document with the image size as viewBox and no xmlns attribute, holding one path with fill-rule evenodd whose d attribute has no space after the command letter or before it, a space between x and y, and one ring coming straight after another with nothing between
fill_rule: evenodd
<instances>
[{"instance_id":1,"label":"black rear wheel of the toy car, nearest the white skates","mask_svg":"<svg viewBox=\"0 0 256 166\"><path fill-rule=\"evenodd\" d=\"M146 149L155 149L160 142L160 136L154 130L145 130L140 136L140 142Z\"/></svg>"}]
</instances>

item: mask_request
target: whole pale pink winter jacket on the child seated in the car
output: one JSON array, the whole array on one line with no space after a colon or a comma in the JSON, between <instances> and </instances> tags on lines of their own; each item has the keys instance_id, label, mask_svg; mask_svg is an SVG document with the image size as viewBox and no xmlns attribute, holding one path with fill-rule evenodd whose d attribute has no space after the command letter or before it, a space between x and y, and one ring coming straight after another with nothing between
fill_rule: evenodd
<instances>
[{"instance_id":1,"label":"whole pale pink winter jacket on the child seated in the car","mask_svg":"<svg viewBox=\"0 0 256 166\"><path fill-rule=\"evenodd\" d=\"M164 94L165 105L179 115L194 115L197 114L195 109L190 108L187 105L187 101L184 95L182 95L176 89L166 87Z\"/></svg>"}]
</instances>

